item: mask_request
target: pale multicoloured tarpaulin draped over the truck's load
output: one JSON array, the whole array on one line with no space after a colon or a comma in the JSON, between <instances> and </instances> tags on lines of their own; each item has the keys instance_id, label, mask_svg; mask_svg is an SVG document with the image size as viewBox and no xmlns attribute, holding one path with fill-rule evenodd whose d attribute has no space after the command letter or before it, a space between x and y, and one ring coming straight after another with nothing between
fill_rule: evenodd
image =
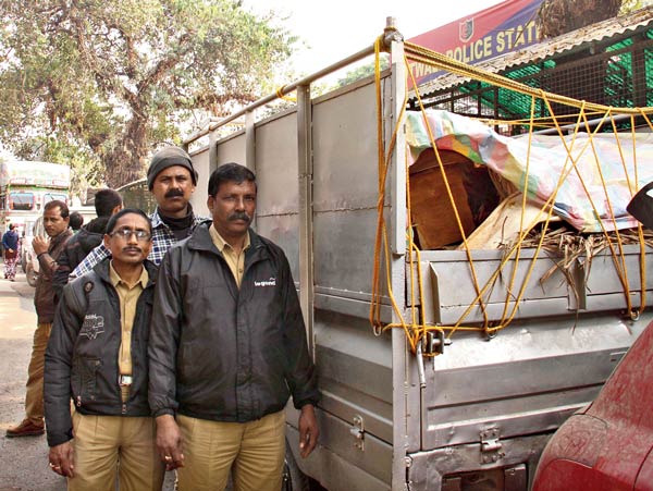
<instances>
[{"instance_id":1,"label":"pale multicoloured tarpaulin draped over the truck's load","mask_svg":"<svg viewBox=\"0 0 653 491\"><path fill-rule=\"evenodd\" d=\"M532 135L529 155L528 135L503 136L479 121L447 111L427 110L426 118L439 149L454 150L488 165L540 206L555 193L560 176L566 174L555 195L553 211L579 231L601 232L600 219L607 231L615 230L615 224L617 229L637 226L626 207L640 187L653 181L651 133L636 133L634 142L631 133L621 133L618 138L612 133L594 134L591 138L587 133L564 138ZM412 163L431 147L431 140L421 112L408 111L406 125Z\"/></svg>"}]
</instances>

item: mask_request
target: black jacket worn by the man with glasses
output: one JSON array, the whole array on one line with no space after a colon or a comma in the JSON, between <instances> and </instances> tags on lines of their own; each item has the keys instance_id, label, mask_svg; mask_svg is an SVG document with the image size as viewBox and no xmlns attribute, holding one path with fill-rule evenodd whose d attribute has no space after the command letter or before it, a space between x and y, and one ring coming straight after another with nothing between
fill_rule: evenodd
<instances>
[{"instance_id":1,"label":"black jacket worn by the man with glasses","mask_svg":"<svg viewBox=\"0 0 653 491\"><path fill-rule=\"evenodd\" d=\"M147 402L147 342L157 267L145 261L149 274L136 304L132 329L133 382L123 404L118 384L121 344L120 300L106 259L63 289L46 349L44 398L48 444L71 440L75 410L86 415L149 416Z\"/></svg>"}]
</instances>

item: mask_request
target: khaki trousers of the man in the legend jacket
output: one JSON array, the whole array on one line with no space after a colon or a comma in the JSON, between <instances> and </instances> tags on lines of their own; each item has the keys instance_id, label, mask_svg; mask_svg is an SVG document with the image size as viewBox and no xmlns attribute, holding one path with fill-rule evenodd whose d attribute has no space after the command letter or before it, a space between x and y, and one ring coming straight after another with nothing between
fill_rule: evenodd
<instances>
[{"instance_id":1,"label":"khaki trousers of the man in the legend jacket","mask_svg":"<svg viewBox=\"0 0 653 491\"><path fill-rule=\"evenodd\" d=\"M184 467L178 491L222 491L230 470L234 491L280 491L285 455L285 412L249 422L177 415Z\"/></svg>"}]
</instances>

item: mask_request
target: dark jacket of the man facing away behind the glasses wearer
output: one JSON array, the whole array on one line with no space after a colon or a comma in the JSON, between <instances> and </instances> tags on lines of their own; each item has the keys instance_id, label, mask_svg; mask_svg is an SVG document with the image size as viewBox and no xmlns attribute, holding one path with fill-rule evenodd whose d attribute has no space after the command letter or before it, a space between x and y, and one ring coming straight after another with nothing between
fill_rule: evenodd
<instances>
[{"instance_id":1,"label":"dark jacket of the man facing away behind the glasses wearer","mask_svg":"<svg viewBox=\"0 0 653 491\"><path fill-rule=\"evenodd\" d=\"M66 242L57 261L57 271L54 271L54 275L52 277L56 302L59 302L61 298L61 291L67 284L69 275L84 260L88 253L101 244L109 218L98 217L91 220Z\"/></svg>"}]
</instances>

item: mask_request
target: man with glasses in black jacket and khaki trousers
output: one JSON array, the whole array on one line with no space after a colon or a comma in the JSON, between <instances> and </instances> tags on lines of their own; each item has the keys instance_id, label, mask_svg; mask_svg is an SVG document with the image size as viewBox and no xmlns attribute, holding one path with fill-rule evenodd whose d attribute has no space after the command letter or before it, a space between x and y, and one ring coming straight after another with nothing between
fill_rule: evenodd
<instances>
[{"instance_id":1,"label":"man with glasses in black jacket and khaki trousers","mask_svg":"<svg viewBox=\"0 0 653 491\"><path fill-rule=\"evenodd\" d=\"M63 290L46 351L45 401L50 467L69 478L69 491L116 489L116 475L121 491L163 482L147 401L151 232L143 211L119 211L104 235L112 259Z\"/></svg>"}]
</instances>

